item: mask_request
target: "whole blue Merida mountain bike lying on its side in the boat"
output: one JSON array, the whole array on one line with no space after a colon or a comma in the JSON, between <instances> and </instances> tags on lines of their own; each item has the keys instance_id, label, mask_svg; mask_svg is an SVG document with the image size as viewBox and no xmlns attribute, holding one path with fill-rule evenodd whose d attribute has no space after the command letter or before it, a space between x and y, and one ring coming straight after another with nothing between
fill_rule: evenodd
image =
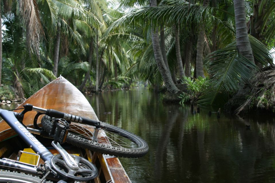
<instances>
[{"instance_id":1,"label":"whole blue Merida mountain bike lying on its side in the boat","mask_svg":"<svg viewBox=\"0 0 275 183\"><path fill-rule=\"evenodd\" d=\"M39 158L45 161L45 164L34 166L3 158L0 159L0 166L7 170L19 170L39 176L39 178L34 177L37 182L56 179L69 182L89 181L98 175L97 168L90 161L70 155L62 148L60 144L65 141L85 149L123 157L140 157L148 151L148 145L143 139L113 125L53 109L39 108L31 104L23 107L24 110L21 113L0 109L0 116L37 153ZM37 112L34 118L35 129L26 127L22 123L24 114L32 110ZM42 114L46 114L41 120L43 128L37 124L38 116ZM53 138L52 146L60 154L53 155L32 133ZM21 178L24 182L29 179L26 176L29 175L1 170L0 181Z\"/></svg>"}]
</instances>

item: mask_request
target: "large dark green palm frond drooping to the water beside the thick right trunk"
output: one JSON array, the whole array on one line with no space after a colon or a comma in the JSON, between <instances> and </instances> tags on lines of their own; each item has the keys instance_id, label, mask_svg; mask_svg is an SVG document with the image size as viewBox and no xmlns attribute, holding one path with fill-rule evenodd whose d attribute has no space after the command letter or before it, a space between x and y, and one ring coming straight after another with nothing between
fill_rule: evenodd
<instances>
[{"instance_id":1,"label":"large dark green palm frond drooping to the water beside the thick right trunk","mask_svg":"<svg viewBox=\"0 0 275 183\"><path fill-rule=\"evenodd\" d=\"M247 82L253 75L253 70L257 69L256 65L238 54L235 44L213 52L207 58L206 66L213 87L199 98L199 105L224 103L227 100L226 94L237 91L239 83L243 85Z\"/></svg>"}]
</instances>

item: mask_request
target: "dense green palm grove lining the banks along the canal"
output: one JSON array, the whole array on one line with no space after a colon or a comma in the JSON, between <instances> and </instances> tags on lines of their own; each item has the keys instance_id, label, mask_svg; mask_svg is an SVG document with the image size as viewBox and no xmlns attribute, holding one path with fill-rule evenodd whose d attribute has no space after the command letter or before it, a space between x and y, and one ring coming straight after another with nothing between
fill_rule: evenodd
<instances>
[{"instance_id":1,"label":"dense green palm grove lining the banks along the canal","mask_svg":"<svg viewBox=\"0 0 275 183\"><path fill-rule=\"evenodd\" d=\"M143 81L181 102L273 110L274 8L268 0L3 0L0 84L25 98L59 75L82 92Z\"/></svg>"}]
</instances>

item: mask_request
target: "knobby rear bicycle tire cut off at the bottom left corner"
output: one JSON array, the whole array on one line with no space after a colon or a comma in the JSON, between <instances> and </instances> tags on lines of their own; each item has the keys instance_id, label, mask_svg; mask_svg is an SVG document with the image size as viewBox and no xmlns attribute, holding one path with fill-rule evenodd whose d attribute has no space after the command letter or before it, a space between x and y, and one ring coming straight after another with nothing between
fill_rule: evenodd
<instances>
[{"instance_id":1,"label":"knobby rear bicycle tire cut off at the bottom left corner","mask_svg":"<svg viewBox=\"0 0 275 183\"><path fill-rule=\"evenodd\" d=\"M0 170L0 182L39 183L41 182L41 179L37 176L32 176L30 174ZM52 183L52 182L44 180L43 183Z\"/></svg>"}]
</instances>

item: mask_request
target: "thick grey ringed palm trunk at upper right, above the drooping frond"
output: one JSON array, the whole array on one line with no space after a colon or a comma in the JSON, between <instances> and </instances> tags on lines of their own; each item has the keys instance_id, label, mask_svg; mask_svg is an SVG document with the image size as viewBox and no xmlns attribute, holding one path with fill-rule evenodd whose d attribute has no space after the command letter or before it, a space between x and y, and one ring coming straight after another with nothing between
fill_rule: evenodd
<instances>
[{"instance_id":1,"label":"thick grey ringed palm trunk at upper right, above the drooping frond","mask_svg":"<svg viewBox=\"0 0 275 183\"><path fill-rule=\"evenodd\" d=\"M251 62L255 63L247 34L244 0L234 0L234 11L238 52Z\"/></svg>"}]
</instances>

